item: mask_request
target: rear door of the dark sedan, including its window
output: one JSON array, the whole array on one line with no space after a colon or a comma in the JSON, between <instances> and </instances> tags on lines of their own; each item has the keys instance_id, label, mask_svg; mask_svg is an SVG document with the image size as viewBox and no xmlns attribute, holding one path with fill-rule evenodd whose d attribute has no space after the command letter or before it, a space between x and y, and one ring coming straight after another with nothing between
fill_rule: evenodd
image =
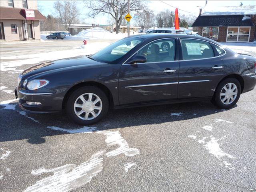
<instances>
[{"instance_id":1,"label":"rear door of the dark sedan, including its window","mask_svg":"<svg viewBox=\"0 0 256 192\"><path fill-rule=\"evenodd\" d=\"M202 40L181 39L178 98L200 98L213 95L218 80L225 74L216 45ZM221 54L224 50L219 48ZM223 52L222 52L223 51Z\"/></svg>"}]
</instances>

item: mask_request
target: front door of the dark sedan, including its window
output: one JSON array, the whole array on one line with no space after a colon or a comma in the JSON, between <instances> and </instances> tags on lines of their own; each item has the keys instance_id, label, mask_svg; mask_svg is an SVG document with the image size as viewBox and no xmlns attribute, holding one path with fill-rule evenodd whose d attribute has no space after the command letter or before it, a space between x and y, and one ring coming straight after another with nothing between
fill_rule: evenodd
<instances>
[{"instance_id":1,"label":"front door of the dark sedan, including its window","mask_svg":"<svg viewBox=\"0 0 256 192\"><path fill-rule=\"evenodd\" d=\"M177 98L179 61L176 39L147 44L136 54L146 63L122 64L119 78L120 105L164 101ZM135 55L136 55L135 54Z\"/></svg>"}]
</instances>

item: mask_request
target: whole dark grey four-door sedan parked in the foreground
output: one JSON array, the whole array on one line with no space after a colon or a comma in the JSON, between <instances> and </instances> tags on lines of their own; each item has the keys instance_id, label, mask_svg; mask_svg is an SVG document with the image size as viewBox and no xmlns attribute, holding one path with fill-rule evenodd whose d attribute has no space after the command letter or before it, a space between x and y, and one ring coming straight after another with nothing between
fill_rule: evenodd
<instances>
[{"instance_id":1,"label":"whole dark grey four-door sedan parked in the foreground","mask_svg":"<svg viewBox=\"0 0 256 192\"><path fill-rule=\"evenodd\" d=\"M168 49L162 48L168 45ZM183 34L141 34L99 52L32 66L18 76L22 110L65 110L78 124L101 120L109 108L212 100L233 107L254 89L256 58Z\"/></svg>"}]
</instances>

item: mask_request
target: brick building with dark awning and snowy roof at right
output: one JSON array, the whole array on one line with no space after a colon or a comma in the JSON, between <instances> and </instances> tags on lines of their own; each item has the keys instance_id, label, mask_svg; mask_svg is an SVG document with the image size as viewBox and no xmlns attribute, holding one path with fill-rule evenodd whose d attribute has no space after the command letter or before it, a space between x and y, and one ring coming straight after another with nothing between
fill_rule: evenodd
<instances>
[{"instance_id":1,"label":"brick building with dark awning and snowy roof at right","mask_svg":"<svg viewBox=\"0 0 256 192\"><path fill-rule=\"evenodd\" d=\"M199 35L218 42L252 42L255 26L256 6L205 6L192 24Z\"/></svg>"}]
</instances>

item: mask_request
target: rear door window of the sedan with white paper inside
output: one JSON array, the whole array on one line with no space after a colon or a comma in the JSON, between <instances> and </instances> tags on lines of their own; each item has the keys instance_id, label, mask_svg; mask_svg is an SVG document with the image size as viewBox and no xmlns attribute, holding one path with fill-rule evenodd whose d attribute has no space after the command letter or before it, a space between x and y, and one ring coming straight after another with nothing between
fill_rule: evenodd
<instances>
[{"instance_id":1,"label":"rear door window of the sedan with white paper inside","mask_svg":"<svg viewBox=\"0 0 256 192\"><path fill-rule=\"evenodd\" d=\"M183 60L214 57L212 47L208 42L192 39L181 39L181 46Z\"/></svg>"}]
</instances>

